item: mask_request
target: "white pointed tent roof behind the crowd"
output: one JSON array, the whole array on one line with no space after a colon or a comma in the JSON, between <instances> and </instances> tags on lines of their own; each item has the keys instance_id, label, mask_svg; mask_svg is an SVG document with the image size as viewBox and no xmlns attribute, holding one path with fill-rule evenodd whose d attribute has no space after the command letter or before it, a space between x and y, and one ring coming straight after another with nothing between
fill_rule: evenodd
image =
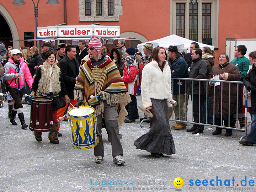
<instances>
[{"instance_id":1,"label":"white pointed tent roof behind the crowd","mask_svg":"<svg viewBox=\"0 0 256 192\"><path fill-rule=\"evenodd\" d=\"M142 52L142 54L143 54L143 51L142 51L143 50L143 46L146 43L153 43L153 48L155 48L157 46L168 48L170 45L172 45L172 46L179 45L179 46L177 46L178 49L182 49L182 50L183 49L188 49L189 50L190 49L190 45L191 45L192 42L195 42L195 41L192 41L190 39L186 39L186 38L177 36L175 34L172 34L170 36L163 37L161 39L156 39L156 40L153 40L153 41L149 41L149 42L145 42L145 43L140 43L140 44L137 45L137 48L140 48L140 51ZM203 43L199 43L199 42L196 42L196 43L199 44L200 49L202 49L203 47L209 47L211 50L213 50L213 48L214 48L213 46L210 46L210 45L207 45L207 44L203 44Z\"/></svg>"}]
</instances>

